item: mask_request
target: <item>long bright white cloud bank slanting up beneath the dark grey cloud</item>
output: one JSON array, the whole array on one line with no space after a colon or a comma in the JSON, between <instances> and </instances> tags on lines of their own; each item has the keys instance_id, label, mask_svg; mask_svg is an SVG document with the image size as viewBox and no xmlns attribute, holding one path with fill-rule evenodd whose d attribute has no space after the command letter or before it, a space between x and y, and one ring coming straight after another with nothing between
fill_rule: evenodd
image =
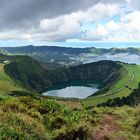
<instances>
[{"instance_id":1,"label":"long bright white cloud bank slanting up beneath the dark grey cloud","mask_svg":"<svg viewBox=\"0 0 140 140\"><path fill-rule=\"evenodd\" d=\"M20 36L21 39L25 37L25 39L43 41L65 41L67 39L80 38L83 34L81 26L85 22L100 21L103 18L111 17L118 13L118 11L119 7L116 4L98 3L85 11L72 12L51 19L41 19L38 25L31 26L28 30L20 28L18 30L5 31L0 34L0 38L6 39L7 34L7 38L9 39L12 33L13 36L11 36L11 39L16 39Z\"/></svg>"}]
</instances>

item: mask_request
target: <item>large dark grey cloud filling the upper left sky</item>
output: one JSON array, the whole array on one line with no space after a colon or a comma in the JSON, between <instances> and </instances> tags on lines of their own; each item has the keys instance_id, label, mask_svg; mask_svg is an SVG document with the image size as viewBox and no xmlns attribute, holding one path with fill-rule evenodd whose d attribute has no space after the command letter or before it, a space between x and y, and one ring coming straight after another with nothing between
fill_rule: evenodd
<instances>
[{"instance_id":1,"label":"large dark grey cloud filling the upper left sky","mask_svg":"<svg viewBox=\"0 0 140 140\"><path fill-rule=\"evenodd\" d=\"M27 28L36 25L43 18L86 10L98 2L98 0L0 0L0 27Z\"/></svg>"}]
</instances>

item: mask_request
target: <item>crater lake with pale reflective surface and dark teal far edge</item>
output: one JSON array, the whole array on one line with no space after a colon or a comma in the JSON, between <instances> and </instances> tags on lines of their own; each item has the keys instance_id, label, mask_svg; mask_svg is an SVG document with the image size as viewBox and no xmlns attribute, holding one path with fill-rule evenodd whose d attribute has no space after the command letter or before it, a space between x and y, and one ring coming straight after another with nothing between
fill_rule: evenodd
<instances>
[{"instance_id":1,"label":"crater lake with pale reflective surface and dark teal far edge","mask_svg":"<svg viewBox=\"0 0 140 140\"><path fill-rule=\"evenodd\" d=\"M101 87L102 83L97 81L72 81L56 84L42 95L83 99L99 91Z\"/></svg>"}]
</instances>

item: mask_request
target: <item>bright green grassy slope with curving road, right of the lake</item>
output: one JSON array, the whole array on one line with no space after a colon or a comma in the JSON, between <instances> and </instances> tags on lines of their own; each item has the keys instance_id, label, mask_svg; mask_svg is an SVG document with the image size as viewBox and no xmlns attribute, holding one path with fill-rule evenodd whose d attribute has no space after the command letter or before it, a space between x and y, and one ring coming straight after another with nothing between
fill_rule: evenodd
<instances>
[{"instance_id":1,"label":"bright green grassy slope with curving road, right of the lake","mask_svg":"<svg viewBox=\"0 0 140 140\"><path fill-rule=\"evenodd\" d=\"M140 82L140 66L139 65L128 65L128 64L123 64L123 66L127 69L127 73L123 72L122 73L122 78L119 79L116 83L114 83L110 88L109 91L107 93L110 93L112 91L115 91L116 89L121 88L123 85L125 85L129 79L132 76L132 72L134 72L135 78L134 80L128 85L130 88L132 89L136 89L138 86L138 83ZM128 96L129 94L131 94L131 90L128 88L124 88L123 90L121 90L120 92L117 92L113 95L108 95L108 96L104 96L104 97L91 97L91 98L87 98L85 100L82 101L82 104L84 105L84 107L88 107L88 106L95 106L99 103L102 102L106 102L108 99L113 99L116 97L123 97L123 96ZM105 94L107 94L105 93Z\"/></svg>"}]
</instances>

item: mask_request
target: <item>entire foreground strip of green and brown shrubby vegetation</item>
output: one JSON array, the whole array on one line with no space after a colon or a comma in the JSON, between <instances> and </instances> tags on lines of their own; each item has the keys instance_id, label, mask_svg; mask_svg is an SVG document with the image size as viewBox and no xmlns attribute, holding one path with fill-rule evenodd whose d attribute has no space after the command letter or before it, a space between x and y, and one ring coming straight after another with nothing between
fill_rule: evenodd
<instances>
[{"instance_id":1,"label":"entire foreground strip of green and brown shrubby vegetation","mask_svg":"<svg viewBox=\"0 0 140 140\"><path fill-rule=\"evenodd\" d=\"M11 97L0 101L0 139L139 140L139 113L139 106L72 110L38 96Z\"/></svg>"}]
</instances>

